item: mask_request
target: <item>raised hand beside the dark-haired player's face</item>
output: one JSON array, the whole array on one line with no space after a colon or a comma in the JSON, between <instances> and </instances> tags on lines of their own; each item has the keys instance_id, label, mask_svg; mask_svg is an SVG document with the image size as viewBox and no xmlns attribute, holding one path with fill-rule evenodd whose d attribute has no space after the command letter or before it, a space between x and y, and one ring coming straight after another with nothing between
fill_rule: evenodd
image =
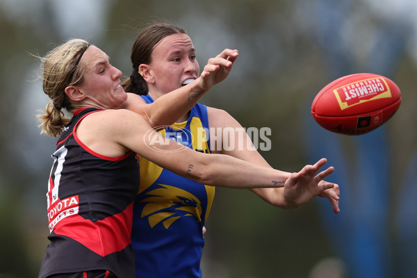
<instances>
[{"instance_id":1,"label":"raised hand beside the dark-haired player's face","mask_svg":"<svg viewBox=\"0 0 417 278\"><path fill-rule=\"evenodd\" d=\"M222 53L215 58L208 59L207 65L201 74L202 88L208 90L213 85L222 82L229 75L231 67L236 58L238 58L238 51L236 49L224 49Z\"/></svg>"}]
</instances>

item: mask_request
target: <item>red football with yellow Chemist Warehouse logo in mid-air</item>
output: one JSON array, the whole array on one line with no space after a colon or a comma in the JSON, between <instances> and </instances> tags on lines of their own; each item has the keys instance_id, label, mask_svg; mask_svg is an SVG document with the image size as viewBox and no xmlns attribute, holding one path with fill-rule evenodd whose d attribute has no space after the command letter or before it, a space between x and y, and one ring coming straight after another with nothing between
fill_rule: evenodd
<instances>
[{"instance_id":1,"label":"red football with yellow Chemist Warehouse logo in mid-air","mask_svg":"<svg viewBox=\"0 0 417 278\"><path fill-rule=\"evenodd\" d=\"M350 74L322 88L311 113L329 131L360 135L388 121L400 104L400 89L390 79L378 74Z\"/></svg>"}]
</instances>

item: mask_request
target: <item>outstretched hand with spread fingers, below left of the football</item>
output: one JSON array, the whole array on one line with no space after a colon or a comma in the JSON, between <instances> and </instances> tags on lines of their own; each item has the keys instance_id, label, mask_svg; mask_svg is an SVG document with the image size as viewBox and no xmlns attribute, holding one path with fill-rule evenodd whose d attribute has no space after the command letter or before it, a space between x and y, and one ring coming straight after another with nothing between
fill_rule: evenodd
<instances>
[{"instance_id":1,"label":"outstretched hand with spread fingers, below left of the football","mask_svg":"<svg viewBox=\"0 0 417 278\"><path fill-rule=\"evenodd\" d=\"M326 158L322 158L316 164L306 165L300 172L291 174L284 184L284 198L288 204L301 206L320 195L329 199L335 213L340 211L338 185L324 181L329 174L334 172L334 167L329 167L317 174L326 162Z\"/></svg>"}]
</instances>

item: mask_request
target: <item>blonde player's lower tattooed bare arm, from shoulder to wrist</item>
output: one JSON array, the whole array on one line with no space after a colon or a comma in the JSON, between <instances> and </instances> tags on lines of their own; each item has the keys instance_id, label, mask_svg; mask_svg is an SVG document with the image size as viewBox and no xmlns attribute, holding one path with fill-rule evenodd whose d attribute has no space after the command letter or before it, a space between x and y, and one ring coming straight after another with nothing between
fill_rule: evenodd
<instances>
[{"instance_id":1,"label":"blonde player's lower tattooed bare arm, from shoulder to wrist","mask_svg":"<svg viewBox=\"0 0 417 278\"><path fill-rule=\"evenodd\" d=\"M107 141L115 142L116 146L113 147L118 154L124 154L130 149L164 169L210 186L229 188L284 186L286 176L279 170L223 154L195 152L163 137L161 133L154 131L143 117L131 111L125 109L101 111L90 116L91 119L94 117L95 123L101 124L99 128L104 129L102 131L104 138L101 141L106 141L108 138ZM103 145L101 143L101 148L104 148ZM117 145L124 147L125 150L117 149ZM109 147L106 147L106 152L108 149Z\"/></svg>"}]
</instances>

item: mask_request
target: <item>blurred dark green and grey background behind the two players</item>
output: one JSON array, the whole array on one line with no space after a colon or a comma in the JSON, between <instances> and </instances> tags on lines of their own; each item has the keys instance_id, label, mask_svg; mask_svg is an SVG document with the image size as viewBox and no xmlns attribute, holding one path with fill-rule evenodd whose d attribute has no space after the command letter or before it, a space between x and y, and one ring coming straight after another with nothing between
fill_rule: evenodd
<instances>
[{"instance_id":1,"label":"blurred dark green and grey background behind the two players","mask_svg":"<svg viewBox=\"0 0 417 278\"><path fill-rule=\"evenodd\" d=\"M310 13L315 2L0 0L0 277L37 277L49 234L45 194L56 141L41 136L37 126L35 115L47 97L37 78L40 61L31 54L44 56L60 42L83 38L128 76L136 31L160 20L188 31L201 68L222 49L236 48L240 55L231 75L201 102L227 110L245 127L270 127L272 150L261 154L273 167L294 172L313 163L303 147L302 140L308 140L303 117L309 116L314 95L332 81L312 36L318 24L318 15ZM352 42L349 55L357 72L363 57L371 55L377 26L402 21L407 37L391 76L403 102L386 124L393 161L393 201L386 215L391 219L417 145L417 5L414 0L351 2L343 39ZM341 137L347 152L352 140ZM340 186L343 197L343 188L352 183ZM343 211L343 199L341 209L341 215L349 213ZM316 202L283 211L249 190L218 188L206 228L204 277L313 277L320 262L343 263L326 236Z\"/></svg>"}]
</instances>

